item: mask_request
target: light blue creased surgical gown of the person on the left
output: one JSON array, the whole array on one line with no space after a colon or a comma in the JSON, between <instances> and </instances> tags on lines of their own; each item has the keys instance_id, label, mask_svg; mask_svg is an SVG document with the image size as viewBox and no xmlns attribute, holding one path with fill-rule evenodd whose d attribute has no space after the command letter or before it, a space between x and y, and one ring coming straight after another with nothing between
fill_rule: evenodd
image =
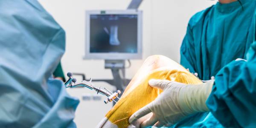
<instances>
[{"instance_id":1,"label":"light blue creased surgical gown of the person on the left","mask_svg":"<svg viewBox=\"0 0 256 128\"><path fill-rule=\"evenodd\" d=\"M75 128L79 100L53 79L65 32L37 0L0 0L0 128Z\"/></svg>"}]
</instances>

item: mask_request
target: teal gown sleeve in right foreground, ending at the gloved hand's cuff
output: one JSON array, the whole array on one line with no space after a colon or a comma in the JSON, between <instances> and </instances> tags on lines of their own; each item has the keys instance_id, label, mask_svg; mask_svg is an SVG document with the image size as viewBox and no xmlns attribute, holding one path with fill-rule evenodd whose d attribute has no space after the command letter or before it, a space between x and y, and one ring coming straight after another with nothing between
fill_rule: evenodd
<instances>
[{"instance_id":1,"label":"teal gown sleeve in right foreground, ending at the gloved hand's cuff","mask_svg":"<svg viewBox=\"0 0 256 128\"><path fill-rule=\"evenodd\" d=\"M253 27L256 28L255 23ZM255 36L254 29L254 41L247 52L247 61L232 61L223 67L216 75L215 85L207 99L209 110L224 127L256 127Z\"/></svg>"}]
</instances>

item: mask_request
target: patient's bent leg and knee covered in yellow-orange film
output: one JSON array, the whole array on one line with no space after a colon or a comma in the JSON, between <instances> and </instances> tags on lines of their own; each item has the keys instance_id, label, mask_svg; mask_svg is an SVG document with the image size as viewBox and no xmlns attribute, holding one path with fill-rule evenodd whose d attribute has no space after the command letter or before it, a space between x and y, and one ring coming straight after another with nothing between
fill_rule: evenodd
<instances>
[{"instance_id":1,"label":"patient's bent leg and knee covered in yellow-orange film","mask_svg":"<svg viewBox=\"0 0 256 128\"><path fill-rule=\"evenodd\" d=\"M189 73L180 64L163 55L148 57L140 70L128 84L121 99L106 114L98 127L125 128L129 125L129 117L152 102L162 90L150 87L150 79L167 79L186 84L200 84L201 81Z\"/></svg>"}]
</instances>

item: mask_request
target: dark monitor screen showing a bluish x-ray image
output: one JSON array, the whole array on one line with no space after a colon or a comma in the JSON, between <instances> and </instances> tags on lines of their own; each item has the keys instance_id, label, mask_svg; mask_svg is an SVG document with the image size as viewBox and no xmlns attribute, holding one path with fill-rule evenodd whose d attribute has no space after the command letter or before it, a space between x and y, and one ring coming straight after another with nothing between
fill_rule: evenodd
<instances>
[{"instance_id":1,"label":"dark monitor screen showing a bluish x-ray image","mask_svg":"<svg viewBox=\"0 0 256 128\"><path fill-rule=\"evenodd\" d=\"M90 15L90 52L137 53L137 15Z\"/></svg>"}]
</instances>

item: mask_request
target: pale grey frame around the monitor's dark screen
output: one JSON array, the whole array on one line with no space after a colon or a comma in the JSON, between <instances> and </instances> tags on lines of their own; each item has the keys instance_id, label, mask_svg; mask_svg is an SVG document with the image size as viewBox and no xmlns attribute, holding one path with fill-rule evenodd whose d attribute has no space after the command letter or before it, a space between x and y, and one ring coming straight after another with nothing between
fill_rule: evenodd
<instances>
[{"instance_id":1,"label":"pale grey frame around the monitor's dark screen","mask_svg":"<svg viewBox=\"0 0 256 128\"><path fill-rule=\"evenodd\" d=\"M104 13L102 13L104 12ZM87 10L84 59L125 60L142 59L142 11L139 10ZM90 52L90 15L137 15L137 53L92 53Z\"/></svg>"}]
</instances>

